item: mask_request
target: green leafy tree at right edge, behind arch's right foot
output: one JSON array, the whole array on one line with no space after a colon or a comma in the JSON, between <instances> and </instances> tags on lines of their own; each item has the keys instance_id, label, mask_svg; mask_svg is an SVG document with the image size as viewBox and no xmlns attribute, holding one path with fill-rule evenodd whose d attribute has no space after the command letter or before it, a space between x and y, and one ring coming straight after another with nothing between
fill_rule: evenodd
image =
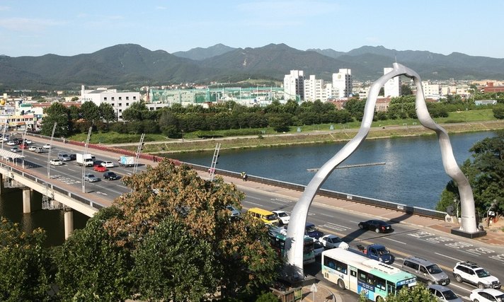
<instances>
[{"instance_id":1,"label":"green leafy tree at right edge, behind arch's right foot","mask_svg":"<svg viewBox=\"0 0 504 302\"><path fill-rule=\"evenodd\" d=\"M473 160L464 162L461 169L469 178L476 209L484 213L496 200L496 210L504 212L504 132L496 137L487 137L469 149ZM444 211L453 200L458 199L457 184L450 180L441 194L436 209Z\"/></svg>"}]
</instances>

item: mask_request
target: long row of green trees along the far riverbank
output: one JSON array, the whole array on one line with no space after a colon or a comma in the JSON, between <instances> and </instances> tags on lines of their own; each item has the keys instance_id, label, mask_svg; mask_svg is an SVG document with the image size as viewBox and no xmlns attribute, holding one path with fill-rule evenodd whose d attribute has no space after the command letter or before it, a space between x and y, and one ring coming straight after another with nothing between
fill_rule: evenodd
<instances>
[{"instance_id":1,"label":"long row of green trees along the far riverbank","mask_svg":"<svg viewBox=\"0 0 504 302\"><path fill-rule=\"evenodd\" d=\"M504 103L504 97L497 99ZM337 110L333 103L322 103L320 100L301 104L288 100L285 104L273 101L266 107L246 107L229 101L210 108L203 108L201 105L182 107L180 104L174 104L169 108L151 111L140 101L122 112L122 119L126 122L117 122L118 112L107 103L96 106L92 102L86 102L80 108L64 108L60 103L54 103L45 110L47 116L42 121L42 134L50 135L55 122L58 124L57 137L87 132L90 126L104 132L163 133L172 138L181 137L182 132L224 129L272 127L277 132L287 132L292 126L345 124L362 120L365 102L366 100L352 98L343 110ZM464 101L458 95L448 95L440 103L428 103L427 106L432 117L447 117L448 112L476 108L474 102ZM504 106L496 106L495 111L496 117L501 117L504 115ZM416 118L414 95L392 98L387 112L377 112L374 115L375 120L406 118Z\"/></svg>"}]
</instances>

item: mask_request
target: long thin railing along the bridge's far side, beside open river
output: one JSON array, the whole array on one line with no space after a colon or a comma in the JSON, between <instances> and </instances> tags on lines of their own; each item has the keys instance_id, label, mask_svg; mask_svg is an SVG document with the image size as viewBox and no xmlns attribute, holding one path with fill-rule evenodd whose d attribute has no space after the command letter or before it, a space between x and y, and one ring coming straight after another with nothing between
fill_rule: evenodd
<instances>
[{"instance_id":1,"label":"long thin railing along the bridge's far side, beside open river","mask_svg":"<svg viewBox=\"0 0 504 302\"><path fill-rule=\"evenodd\" d=\"M30 133L30 135L33 135L34 137L40 137L42 139L50 139L50 137L45 137L40 134ZM64 142L64 139L54 139L54 140ZM84 146L84 142L81 142L81 141L67 141L67 144ZM102 150L102 151L109 151L109 152L113 152L113 153L129 155L129 156L136 155L134 151L127 151L124 149L111 148L111 147L104 146L101 144L88 144L88 148ZM144 158L144 159L153 160L153 161L156 161L156 160L160 161L164 157L151 156L150 154L141 153L139 158ZM177 160L171 160L171 161L173 161L173 163L175 163L176 165L181 164L181 162L177 161ZM205 171L205 172L207 172L208 169L210 168L205 165L196 165L193 163L185 163L185 164L190 165L195 170L201 170L201 171ZM233 172L233 171L215 169L215 173L241 179L241 174L237 173L237 172ZM275 187L285 187L286 189L297 190L299 192L303 192L304 188L305 188L304 185L298 185L298 184L295 184L292 182L283 182L281 180L272 180L269 178L261 178L259 176L254 176L254 175L247 175L247 177L248 177L248 180L253 181L253 182L259 182L259 183L263 183L265 185L273 185ZM385 200L372 199L372 198L362 197L362 196L358 196L358 195L347 194L347 193L336 192L336 191L325 190L325 189L319 189L319 194L322 196L326 196L326 197L350 200L352 202L360 202L362 204L368 204L368 205L372 205L374 207L393 209L395 211L401 211L406 214L425 216L425 217L430 217L433 219L440 219L443 221L445 220L445 216L447 214L446 212L443 212L443 211L436 211L436 210L425 209L425 208L421 208L421 207L411 207L411 206L408 206L407 204L397 204L395 202L387 202Z\"/></svg>"}]
</instances>

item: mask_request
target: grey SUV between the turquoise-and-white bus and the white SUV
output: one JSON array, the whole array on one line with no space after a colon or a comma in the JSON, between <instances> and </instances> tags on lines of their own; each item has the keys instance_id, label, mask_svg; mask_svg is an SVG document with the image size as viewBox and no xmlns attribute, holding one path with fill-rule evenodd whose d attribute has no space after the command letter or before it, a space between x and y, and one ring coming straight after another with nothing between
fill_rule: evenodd
<instances>
[{"instance_id":1,"label":"grey SUV between the turquoise-and-white bus and the white SUV","mask_svg":"<svg viewBox=\"0 0 504 302\"><path fill-rule=\"evenodd\" d=\"M403 261L403 271L414 274L425 284L448 285L448 275L436 264L420 257L406 257Z\"/></svg>"}]
</instances>

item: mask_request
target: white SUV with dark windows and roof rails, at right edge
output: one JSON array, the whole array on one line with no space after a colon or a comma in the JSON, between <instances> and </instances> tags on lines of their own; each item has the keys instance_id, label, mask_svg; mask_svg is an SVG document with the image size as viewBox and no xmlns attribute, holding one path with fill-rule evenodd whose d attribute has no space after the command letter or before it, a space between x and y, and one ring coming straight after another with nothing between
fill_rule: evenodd
<instances>
[{"instance_id":1,"label":"white SUV with dark windows and roof rails, at right edge","mask_svg":"<svg viewBox=\"0 0 504 302\"><path fill-rule=\"evenodd\" d=\"M474 262L457 262L453 268L453 275L458 282L478 286L479 289L500 289L500 281L497 277L491 276L483 267L479 267Z\"/></svg>"}]
</instances>

